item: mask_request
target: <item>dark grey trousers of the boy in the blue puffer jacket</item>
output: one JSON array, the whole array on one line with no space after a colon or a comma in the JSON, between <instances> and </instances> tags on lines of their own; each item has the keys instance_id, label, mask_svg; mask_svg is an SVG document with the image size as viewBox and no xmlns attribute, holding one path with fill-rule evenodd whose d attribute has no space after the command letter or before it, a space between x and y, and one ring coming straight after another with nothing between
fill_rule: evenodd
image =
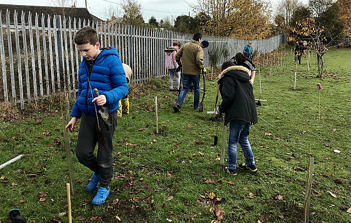
<instances>
[{"instance_id":1,"label":"dark grey trousers of the boy in the blue puffer jacket","mask_svg":"<svg viewBox=\"0 0 351 223\"><path fill-rule=\"evenodd\" d=\"M96 174L100 174L100 186L107 187L112 179L112 137L117 125L117 112L112 112L112 125L108 126L98 116L101 133L105 137L105 145L98 143L98 125L95 115L82 115L78 133L76 155L78 161ZM97 156L94 150L98 143Z\"/></svg>"}]
</instances>

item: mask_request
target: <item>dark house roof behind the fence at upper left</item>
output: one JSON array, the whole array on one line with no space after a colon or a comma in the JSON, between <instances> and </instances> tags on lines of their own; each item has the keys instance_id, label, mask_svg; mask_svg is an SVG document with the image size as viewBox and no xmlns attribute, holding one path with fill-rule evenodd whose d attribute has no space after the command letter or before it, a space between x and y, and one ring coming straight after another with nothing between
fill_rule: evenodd
<instances>
[{"instance_id":1,"label":"dark house roof behind the fence at upper left","mask_svg":"<svg viewBox=\"0 0 351 223\"><path fill-rule=\"evenodd\" d=\"M89 11L86 8L75 8L75 7L49 7L49 6L23 6L23 5L7 5L7 4L0 4L0 11L2 21L5 23L6 21L6 11L9 10L10 13L10 24L14 24L14 12L18 13L17 15L17 22L18 24L21 24L21 14L22 12L25 13L25 18L26 18L26 25L28 25L28 15L29 12L32 14L32 25L35 25L35 15L36 13L38 14L38 22L39 26L42 24L42 15L44 14L45 16L45 27L47 27L47 18L48 15L54 16L54 15L61 15L62 19L63 16L68 20L69 17L73 20L76 18L77 21L81 19L81 21L85 20L86 22L89 21L97 21L97 22L104 22L103 20L99 19L98 17L92 15L89 13ZM68 21L67 21L68 22ZM51 27L53 24L51 23Z\"/></svg>"}]
</instances>

